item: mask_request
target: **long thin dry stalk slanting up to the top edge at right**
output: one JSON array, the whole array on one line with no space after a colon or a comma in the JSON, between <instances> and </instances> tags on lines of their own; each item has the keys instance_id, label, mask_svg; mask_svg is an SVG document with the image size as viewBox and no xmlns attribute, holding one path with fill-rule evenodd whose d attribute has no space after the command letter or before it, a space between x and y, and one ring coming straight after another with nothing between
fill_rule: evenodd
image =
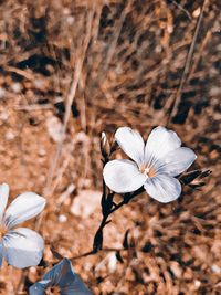
<instances>
[{"instance_id":1,"label":"long thin dry stalk slanting up to the top edge at right","mask_svg":"<svg viewBox=\"0 0 221 295\"><path fill-rule=\"evenodd\" d=\"M199 34L200 25L201 25L201 22L202 22L202 15L203 15L204 9L207 7L207 3L208 3L208 0L204 0L203 4L202 4L202 8L201 8L200 15L198 18L198 22L197 22L197 25L196 25L196 30L194 30L194 34L193 34L193 38L192 38L192 42L191 42L191 45L190 45L190 49L189 49L189 52L188 52L188 55L187 55L185 70L183 70L182 76L181 76L179 88L178 88L178 91L176 93L176 96L175 96L175 98L172 101L172 104L171 104L171 109L170 109L170 113L168 115L167 125L169 124L170 119L177 114L178 106L180 104L181 93L182 93L185 83L187 81L189 70L190 70L190 64L191 64L192 56L193 56L194 45L196 45L196 42L197 42L197 38L198 38L198 34Z\"/></svg>"}]
</instances>

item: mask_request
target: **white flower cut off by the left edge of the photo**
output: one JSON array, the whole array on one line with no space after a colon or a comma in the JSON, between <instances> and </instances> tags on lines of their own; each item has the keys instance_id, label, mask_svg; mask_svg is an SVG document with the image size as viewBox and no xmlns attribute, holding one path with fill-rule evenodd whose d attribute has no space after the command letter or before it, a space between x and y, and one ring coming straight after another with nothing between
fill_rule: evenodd
<instances>
[{"instance_id":1,"label":"white flower cut off by the left edge of the photo","mask_svg":"<svg viewBox=\"0 0 221 295\"><path fill-rule=\"evenodd\" d=\"M45 199L24 192L6 210L8 198L9 186L0 185L0 266L3 257L18 268L38 265L43 255L43 239L32 230L15 226L38 215L44 209Z\"/></svg>"}]
</instances>

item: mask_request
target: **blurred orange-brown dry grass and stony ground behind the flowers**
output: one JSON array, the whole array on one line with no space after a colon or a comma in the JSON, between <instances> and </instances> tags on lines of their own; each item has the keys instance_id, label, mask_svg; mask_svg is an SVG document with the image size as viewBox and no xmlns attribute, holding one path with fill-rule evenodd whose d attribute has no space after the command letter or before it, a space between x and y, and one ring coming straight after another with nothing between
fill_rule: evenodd
<instances>
[{"instance_id":1,"label":"blurred orange-brown dry grass and stony ground behind the flowers","mask_svg":"<svg viewBox=\"0 0 221 295\"><path fill-rule=\"evenodd\" d=\"M112 138L130 126L147 138L161 125L198 155L192 169L212 170L206 186L183 188L169 204L137 197L104 231L104 245L120 249L129 229L129 251L73 266L94 294L221 294L221 3L0 4L0 181L11 199L27 190L48 198L38 223L45 261L56 261L50 246L67 257L92 247L102 218L101 133ZM31 267L29 283L44 272ZM27 294L20 280L4 266L0 294Z\"/></svg>"}]
</instances>

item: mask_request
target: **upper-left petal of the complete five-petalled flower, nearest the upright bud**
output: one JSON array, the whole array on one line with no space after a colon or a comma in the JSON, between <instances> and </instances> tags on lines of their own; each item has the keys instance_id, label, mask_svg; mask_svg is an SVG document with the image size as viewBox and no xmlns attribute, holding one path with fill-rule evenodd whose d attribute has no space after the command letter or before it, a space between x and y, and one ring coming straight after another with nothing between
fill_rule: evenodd
<instances>
[{"instance_id":1,"label":"upper-left petal of the complete five-petalled flower, nearest the upright bud","mask_svg":"<svg viewBox=\"0 0 221 295\"><path fill-rule=\"evenodd\" d=\"M141 165L145 156L145 143L137 130L120 127L115 134L115 139L129 158Z\"/></svg>"}]
</instances>

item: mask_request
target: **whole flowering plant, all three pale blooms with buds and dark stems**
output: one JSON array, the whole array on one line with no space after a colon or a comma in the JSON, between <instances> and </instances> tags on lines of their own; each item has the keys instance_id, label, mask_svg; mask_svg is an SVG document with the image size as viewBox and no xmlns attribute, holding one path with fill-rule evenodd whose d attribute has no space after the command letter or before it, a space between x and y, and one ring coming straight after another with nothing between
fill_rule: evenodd
<instances>
[{"instance_id":1,"label":"whole flowering plant, all three pale blooms with buds and dark stems","mask_svg":"<svg viewBox=\"0 0 221 295\"><path fill-rule=\"evenodd\" d=\"M110 159L117 145L129 159ZM77 257L95 254L103 249L103 230L110 222L109 215L136 196L146 191L156 201L168 203L179 198L181 183L198 188L203 186L201 179L210 173L209 170L194 170L181 175L197 156L190 148L181 147L181 140L175 131L160 126L152 129L146 144L140 134L129 127L118 128L112 145L103 133L101 151L104 164L103 219L94 236L92 251ZM115 202L115 193L122 196L122 201ZM42 260L44 241L35 231L17 225L38 215L44 209L45 199L33 192L24 192L6 210L8 198L9 186L3 183L0 186L0 265L4 257L18 268L35 266ZM129 249L127 240L128 231L123 242L124 250ZM110 251L119 254L120 249ZM61 259L60 263L33 284L29 294L92 294L74 273L71 260L63 259L56 251L52 253Z\"/></svg>"}]
</instances>

